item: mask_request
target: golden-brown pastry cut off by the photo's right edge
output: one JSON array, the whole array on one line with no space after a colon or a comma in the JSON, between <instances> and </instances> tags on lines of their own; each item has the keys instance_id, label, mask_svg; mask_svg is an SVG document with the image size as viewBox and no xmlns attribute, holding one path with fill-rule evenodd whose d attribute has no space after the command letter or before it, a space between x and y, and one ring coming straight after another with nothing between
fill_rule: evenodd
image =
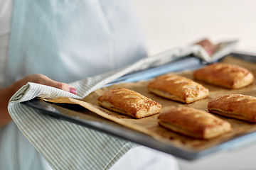
<instances>
[{"instance_id":1,"label":"golden-brown pastry cut off by the photo's right edge","mask_svg":"<svg viewBox=\"0 0 256 170\"><path fill-rule=\"evenodd\" d=\"M220 96L208 103L208 111L256 123L256 98L242 94Z\"/></svg>"}]
</instances>

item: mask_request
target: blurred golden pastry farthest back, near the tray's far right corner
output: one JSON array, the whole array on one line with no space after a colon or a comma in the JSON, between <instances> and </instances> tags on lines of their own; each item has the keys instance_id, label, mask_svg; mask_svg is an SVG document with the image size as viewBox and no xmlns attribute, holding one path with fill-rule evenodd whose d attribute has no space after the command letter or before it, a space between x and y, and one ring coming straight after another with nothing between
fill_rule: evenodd
<instances>
[{"instance_id":1,"label":"blurred golden pastry farthest back, near the tray's far right corner","mask_svg":"<svg viewBox=\"0 0 256 170\"><path fill-rule=\"evenodd\" d=\"M194 78L228 89L239 89L252 84L254 76L247 69L225 63L210 64L194 72Z\"/></svg>"}]
</instances>

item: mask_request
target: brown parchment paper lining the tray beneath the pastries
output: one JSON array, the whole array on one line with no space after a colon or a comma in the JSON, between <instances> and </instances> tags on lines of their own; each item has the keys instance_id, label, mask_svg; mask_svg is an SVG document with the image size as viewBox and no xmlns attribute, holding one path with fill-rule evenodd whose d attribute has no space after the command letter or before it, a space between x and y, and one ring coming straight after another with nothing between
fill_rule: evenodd
<instances>
[{"instance_id":1,"label":"brown parchment paper lining the tray beneath the pastries","mask_svg":"<svg viewBox=\"0 0 256 170\"><path fill-rule=\"evenodd\" d=\"M249 69L254 76L256 77L256 64L245 62L243 60L239 60L235 57L225 57L225 60L222 62L230 63L230 64L237 64L242 67L245 67ZM193 79L193 71L187 71L187 72L175 72L175 73L169 73L171 75L173 74L179 74L183 77L187 77L188 79L192 79L193 81L196 81ZM192 151L201 151L203 149L207 149L209 147L213 147L214 145L218 145L222 142L225 142L227 140L231 140L234 137L237 137L238 135L245 135L249 132L256 131L256 123L247 123L242 120L237 120L233 118L225 118L219 115L215 115L218 118L221 118L223 120L227 120L232 125L231 132L225 133L223 135L220 135L219 137L215 137L210 140L198 140L192 137L187 137L185 135L178 134L176 132L172 132L170 130L166 130L165 128L162 128L158 124L157 117L159 114L149 116L147 118L142 119L134 119L130 118L127 115L121 115L119 113L115 113L113 111L109 111L106 108L101 107L97 103L97 98L101 96L105 91L109 89L114 89L115 87L124 87L127 89L131 89L133 91L137 91L140 94L151 98L152 100L161 103L162 111L166 111L170 108L175 108L177 106L191 106L193 108L197 108L203 111L207 111L207 105L209 101L212 101L214 98L217 98L218 96L223 96L225 94L245 94L250 96L256 97L256 82L254 81L252 85L247 86L242 89L223 89L217 86L211 86L209 84L204 84L201 81L196 81L199 84L202 84L206 88L209 89L210 95L208 98L203 99L201 101L196 101L194 103L190 104L183 104L176 101L171 101L166 98L161 98L159 96L156 96L154 94L151 94L149 91L147 91L147 85L149 84L151 80L149 81L139 81L135 83L126 83L126 84L115 84L112 86L107 86L102 89L97 89L96 91L92 92L82 100L77 100L74 98L57 98L54 100L47 100L51 103L75 103L79 104L80 106L83 106L87 108L88 110L97 113L97 115L101 115L104 118L107 118L108 120L112 120L115 123L119 123L121 125L124 125L128 128L131 128L133 130L137 130L139 132L144 132L147 135L151 135L151 137L154 137L156 140L159 140L161 142L166 142L169 145L173 145L174 147L178 147L181 149L188 149ZM161 111L161 112L162 112ZM161 113L160 113L161 114Z\"/></svg>"}]
</instances>

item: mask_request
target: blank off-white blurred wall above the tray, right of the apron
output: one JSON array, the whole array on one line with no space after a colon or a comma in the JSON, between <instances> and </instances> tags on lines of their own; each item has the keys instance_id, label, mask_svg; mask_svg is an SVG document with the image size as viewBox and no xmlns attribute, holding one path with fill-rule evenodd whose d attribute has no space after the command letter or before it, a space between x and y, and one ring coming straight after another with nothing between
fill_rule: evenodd
<instances>
[{"instance_id":1,"label":"blank off-white blurred wall above the tray, right of the apron","mask_svg":"<svg viewBox=\"0 0 256 170\"><path fill-rule=\"evenodd\" d=\"M256 53L255 0L132 0L154 55L202 38L238 39L237 50Z\"/></svg>"}]
</instances>

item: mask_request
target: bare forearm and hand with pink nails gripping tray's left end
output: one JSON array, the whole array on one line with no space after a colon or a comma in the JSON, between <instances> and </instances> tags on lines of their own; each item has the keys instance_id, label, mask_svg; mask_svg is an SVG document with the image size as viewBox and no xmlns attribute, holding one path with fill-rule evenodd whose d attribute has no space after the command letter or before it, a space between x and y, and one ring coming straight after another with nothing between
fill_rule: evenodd
<instances>
[{"instance_id":1,"label":"bare forearm and hand with pink nails gripping tray's left end","mask_svg":"<svg viewBox=\"0 0 256 170\"><path fill-rule=\"evenodd\" d=\"M72 94L76 94L76 90L68 84L53 81L42 74L32 74L24 79L16 81L16 83L5 89L0 90L0 128L7 123L11 122L11 116L8 113L7 106L11 96L13 96L21 86L27 84L28 82L33 82L37 84L43 84L47 86L53 86L64 91L69 91Z\"/></svg>"}]
</instances>

